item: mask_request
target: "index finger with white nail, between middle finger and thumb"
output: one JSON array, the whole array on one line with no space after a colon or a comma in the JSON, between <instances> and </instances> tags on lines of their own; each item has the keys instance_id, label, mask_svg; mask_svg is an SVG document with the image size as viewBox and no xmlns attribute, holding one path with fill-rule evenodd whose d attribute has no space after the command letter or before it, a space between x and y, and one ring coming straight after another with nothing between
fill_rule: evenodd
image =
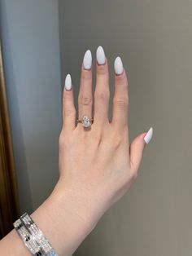
<instances>
[{"instance_id":1,"label":"index finger with white nail, between middle finger and thumb","mask_svg":"<svg viewBox=\"0 0 192 256\"><path fill-rule=\"evenodd\" d=\"M118 130L124 130L128 125L128 81L120 57L114 63L115 92L113 97L112 125Z\"/></svg>"}]
</instances>

